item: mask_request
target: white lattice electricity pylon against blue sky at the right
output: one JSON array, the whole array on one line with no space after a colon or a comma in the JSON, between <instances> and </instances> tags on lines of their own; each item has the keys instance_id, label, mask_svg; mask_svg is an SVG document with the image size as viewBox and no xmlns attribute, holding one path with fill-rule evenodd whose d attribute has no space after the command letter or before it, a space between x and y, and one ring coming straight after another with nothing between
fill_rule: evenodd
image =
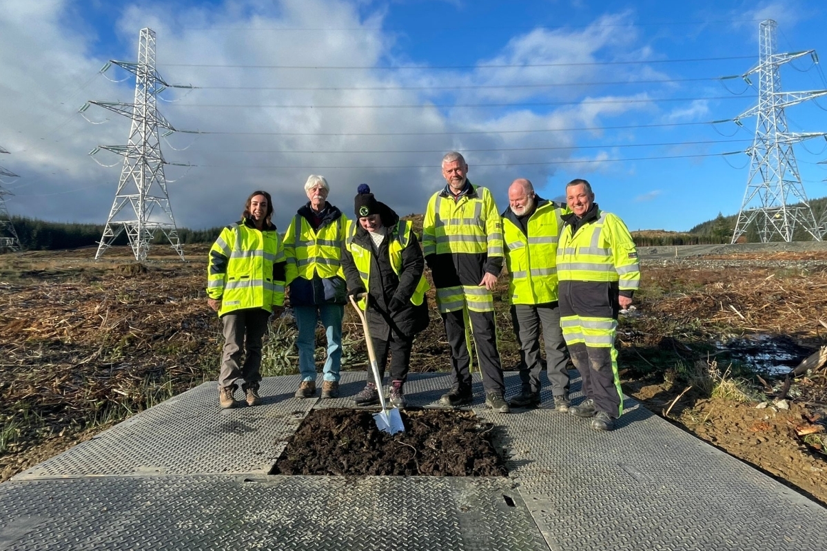
<instances>
[{"instance_id":1,"label":"white lattice electricity pylon against blue sky at the right","mask_svg":"<svg viewBox=\"0 0 827 551\"><path fill-rule=\"evenodd\" d=\"M825 235L825 228L815 223L801 183L796 155L792 151L794 143L823 136L825 132L788 131L784 109L827 95L827 90L782 92L782 64L805 55L811 55L818 63L818 57L815 50L776 54L776 27L777 23L772 19L760 23L758 65L742 75L747 83L752 84L749 75L758 74L758 105L735 117L734 121L741 125L741 119L758 116L758 123L753 146L747 150L750 156L749 178L732 235L733 243L753 222L762 243L776 236L791 241L796 225L812 235L814 240L820 241ZM797 205L794 207L790 203Z\"/></svg>"}]
</instances>

